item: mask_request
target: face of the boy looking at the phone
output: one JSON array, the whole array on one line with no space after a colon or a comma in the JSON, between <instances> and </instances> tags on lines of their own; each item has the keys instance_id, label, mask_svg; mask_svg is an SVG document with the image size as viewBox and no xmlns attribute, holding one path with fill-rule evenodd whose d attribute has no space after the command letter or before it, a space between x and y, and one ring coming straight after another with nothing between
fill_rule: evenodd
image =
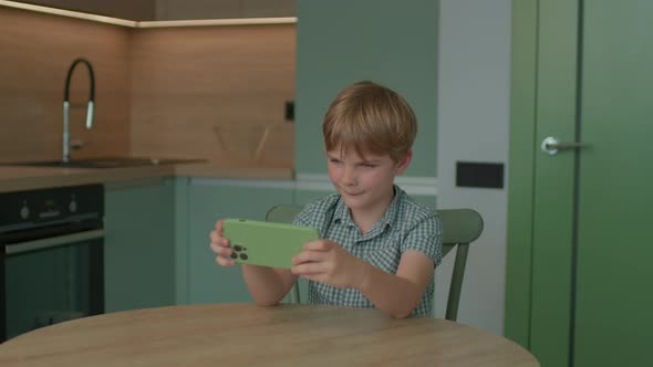
<instances>
[{"instance_id":1,"label":"face of the boy looking at the phone","mask_svg":"<svg viewBox=\"0 0 653 367\"><path fill-rule=\"evenodd\" d=\"M394 178L406 170L412 151L395 162L390 155L365 154L355 149L345 155L340 147L326 151L329 178L345 205L356 212L385 211L392 201Z\"/></svg>"}]
</instances>

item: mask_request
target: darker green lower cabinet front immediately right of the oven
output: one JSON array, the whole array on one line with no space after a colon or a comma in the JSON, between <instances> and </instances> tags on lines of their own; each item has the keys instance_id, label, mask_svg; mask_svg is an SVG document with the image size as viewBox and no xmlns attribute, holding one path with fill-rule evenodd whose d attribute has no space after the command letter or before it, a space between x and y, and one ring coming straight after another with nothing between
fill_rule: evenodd
<instances>
[{"instance_id":1,"label":"darker green lower cabinet front immediately right of the oven","mask_svg":"<svg viewBox=\"0 0 653 367\"><path fill-rule=\"evenodd\" d=\"M105 186L105 310L175 303L174 178Z\"/></svg>"}]
</instances>

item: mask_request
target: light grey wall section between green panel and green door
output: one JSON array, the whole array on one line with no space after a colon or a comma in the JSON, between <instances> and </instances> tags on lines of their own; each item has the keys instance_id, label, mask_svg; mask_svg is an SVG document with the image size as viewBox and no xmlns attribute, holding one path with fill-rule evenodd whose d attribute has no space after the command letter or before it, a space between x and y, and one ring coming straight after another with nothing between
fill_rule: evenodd
<instances>
[{"instance_id":1,"label":"light grey wall section between green panel and green door","mask_svg":"<svg viewBox=\"0 0 653 367\"><path fill-rule=\"evenodd\" d=\"M507 188L456 187L455 164L507 169L510 0L440 0L438 67L438 208L476 208L485 221L469 251L458 319L502 334ZM447 259L440 266L438 292L452 265Z\"/></svg>"}]
</instances>

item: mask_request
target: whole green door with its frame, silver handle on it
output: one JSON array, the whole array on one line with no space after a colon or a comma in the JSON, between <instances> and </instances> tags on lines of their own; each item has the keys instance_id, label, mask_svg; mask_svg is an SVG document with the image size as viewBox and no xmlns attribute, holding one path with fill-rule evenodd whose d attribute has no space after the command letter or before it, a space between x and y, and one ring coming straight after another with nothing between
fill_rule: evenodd
<instances>
[{"instance_id":1,"label":"whole green door with its frame, silver handle on it","mask_svg":"<svg viewBox=\"0 0 653 367\"><path fill-rule=\"evenodd\" d=\"M514 17L506 335L545 367L653 366L653 1Z\"/></svg>"}]
</instances>

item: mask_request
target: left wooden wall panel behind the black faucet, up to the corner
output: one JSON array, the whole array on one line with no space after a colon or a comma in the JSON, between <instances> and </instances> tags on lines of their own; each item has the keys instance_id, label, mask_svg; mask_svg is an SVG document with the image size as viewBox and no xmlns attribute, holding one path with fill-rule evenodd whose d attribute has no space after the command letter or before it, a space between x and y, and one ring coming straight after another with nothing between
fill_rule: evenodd
<instances>
[{"instance_id":1,"label":"left wooden wall panel behind the black faucet, up to the corner","mask_svg":"<svg viewBox=\"0 0 653 367\"><path fill-rule=\"evenodd\" d=\"M61 157L65 74L77 56L95 71L95 127L85 108L71 114L71 135L89 143L73 157L128 151L128 29L0 8L0 161ZM85 104L87 72L77 65L72 102Z\"/></svg>"}]
</instances>

